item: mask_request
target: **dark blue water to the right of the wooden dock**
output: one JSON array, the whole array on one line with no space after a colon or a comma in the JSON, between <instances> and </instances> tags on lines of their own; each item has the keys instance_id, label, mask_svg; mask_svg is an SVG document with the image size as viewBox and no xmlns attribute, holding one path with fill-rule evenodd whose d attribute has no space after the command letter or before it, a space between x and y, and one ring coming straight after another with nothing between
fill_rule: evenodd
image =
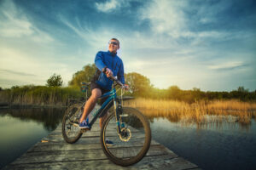
<instances>
[{"instance_id":1,"label":"dark blue water to the right of the wooden dock","mask_svg":"<svg viewBox=\"0 0 256 170\"><path fill-rule=\"evenodd\" d=\"M184 126L154 118L153 138L203 169L256 169L256 122Z\"/></svg>"}]
</instances>

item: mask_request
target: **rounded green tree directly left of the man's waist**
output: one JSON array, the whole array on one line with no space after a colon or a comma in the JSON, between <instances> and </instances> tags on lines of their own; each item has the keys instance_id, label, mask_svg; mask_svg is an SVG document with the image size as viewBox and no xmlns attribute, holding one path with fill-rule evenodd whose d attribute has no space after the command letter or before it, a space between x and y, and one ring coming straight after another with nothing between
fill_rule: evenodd
<instances>
[{"instance_id":1,"label":"rounded green tree directly left of the man's waist","mask_svg":"<svg viewBox=\"0 0 256 170\"><path fill-rule=\"evenodd\" d=\"M73 77L68 85L80 86L81 82L90 82L96 72L96 65L85 65L82 71L77 71L73 74Z\"/></svg>"}]
</instances>

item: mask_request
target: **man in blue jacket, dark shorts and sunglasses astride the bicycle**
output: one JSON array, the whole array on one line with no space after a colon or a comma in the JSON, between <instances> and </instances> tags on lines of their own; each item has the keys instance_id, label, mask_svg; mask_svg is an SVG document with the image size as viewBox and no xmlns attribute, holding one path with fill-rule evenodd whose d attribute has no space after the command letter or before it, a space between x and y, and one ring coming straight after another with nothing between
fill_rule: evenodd
<instances>
[{"instance_id":1,"label":"man in blue jacket, dark shorts and sunglasses astride the bicycle","mask_svg":"<svg viewBox=\"0 0 256 170\"><path fill-rule=\"evenodd\" d=\"M88 119L85 121L86 117L95 107L97 99L101 97L102 94L105 94L111 90L113 82L108 79L108 77L118 77L119 81L125 84L123 61L119 58L119 56L117 56L119 40L112 38L108 43L108 52L100 51L96 54L95 64L98 70L90 83L91 95L84 105L84 112L79 120L80 128L89 128ZM103 70L106 70L106 74L102 72ZM100 117L101 128L107 116L108 114L104 114L102 117Z\"/></svg>"}]
</instances>

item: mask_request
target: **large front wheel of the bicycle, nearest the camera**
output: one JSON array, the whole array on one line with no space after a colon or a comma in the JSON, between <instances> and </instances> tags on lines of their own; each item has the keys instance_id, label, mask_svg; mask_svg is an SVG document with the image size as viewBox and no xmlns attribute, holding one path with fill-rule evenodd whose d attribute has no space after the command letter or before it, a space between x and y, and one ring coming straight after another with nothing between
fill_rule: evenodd
<instances>
[{"instance_id":1,"label":"large front wheel of the bicycle, nearest the camera","mask_svg":"<svg viewBox=\"0 0 256 170\"><path fill-rule=\"evenodd\" d=\"M137 111L134 108L124 107L122 115L122 122L125 124L125 127L123 127L122 129L124 132L129 132L129 134L126 137L125 135L124 137L121 137L121 135L119 135L117 131L113 131L114 128L114 130L117 130L117 126L115 122L114 113L112 113L107 117L106 121L103 123L101 130L101 144L102 150L104 151L105 155L108 156L109 160L113 161L117 165L126 167L135 164L138 161L141 161L143 157L147 154L151 143L151 130L148 119L145 116L143 116L143 114L140 111ZM127 121L124 120L126 118ZM107 132L108 130L109 132ZM131 130L133 131L132 133ZM143 132L145 133L144 139L142 135ZM119 136L119 139L115 139L116 134ZM116 142L115 145L108 146L106 144L107 138L110 138L111 140L113 140L113 142ZM142 146L140 146L141 143L139 140L142 140ZM118 144L120 146L117 146ZM125 150L128 152L131 151L133 156L127 156L128 154L125 152ZM116 154L114 152L116 152ZM121 152L123 152L123 157L119 156L122 154Z\"/></svg>"}]
</instances>

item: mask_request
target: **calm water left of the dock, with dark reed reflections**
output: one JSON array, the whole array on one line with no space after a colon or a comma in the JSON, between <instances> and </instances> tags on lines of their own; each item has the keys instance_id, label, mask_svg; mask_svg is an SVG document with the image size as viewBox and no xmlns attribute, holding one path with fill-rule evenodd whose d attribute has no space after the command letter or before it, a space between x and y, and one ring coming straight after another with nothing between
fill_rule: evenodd
<instances>
[{"instance_id":1,"label":"calm water left of the dock, with dark reed reflections","mask_svg":"<svg viewBox=\"0 0 256 170\"><path fill-rule=\"evenodd\" d=\"M61 123L65 109L0 109L0 169Z\"/></svg>"}]
</instances>

